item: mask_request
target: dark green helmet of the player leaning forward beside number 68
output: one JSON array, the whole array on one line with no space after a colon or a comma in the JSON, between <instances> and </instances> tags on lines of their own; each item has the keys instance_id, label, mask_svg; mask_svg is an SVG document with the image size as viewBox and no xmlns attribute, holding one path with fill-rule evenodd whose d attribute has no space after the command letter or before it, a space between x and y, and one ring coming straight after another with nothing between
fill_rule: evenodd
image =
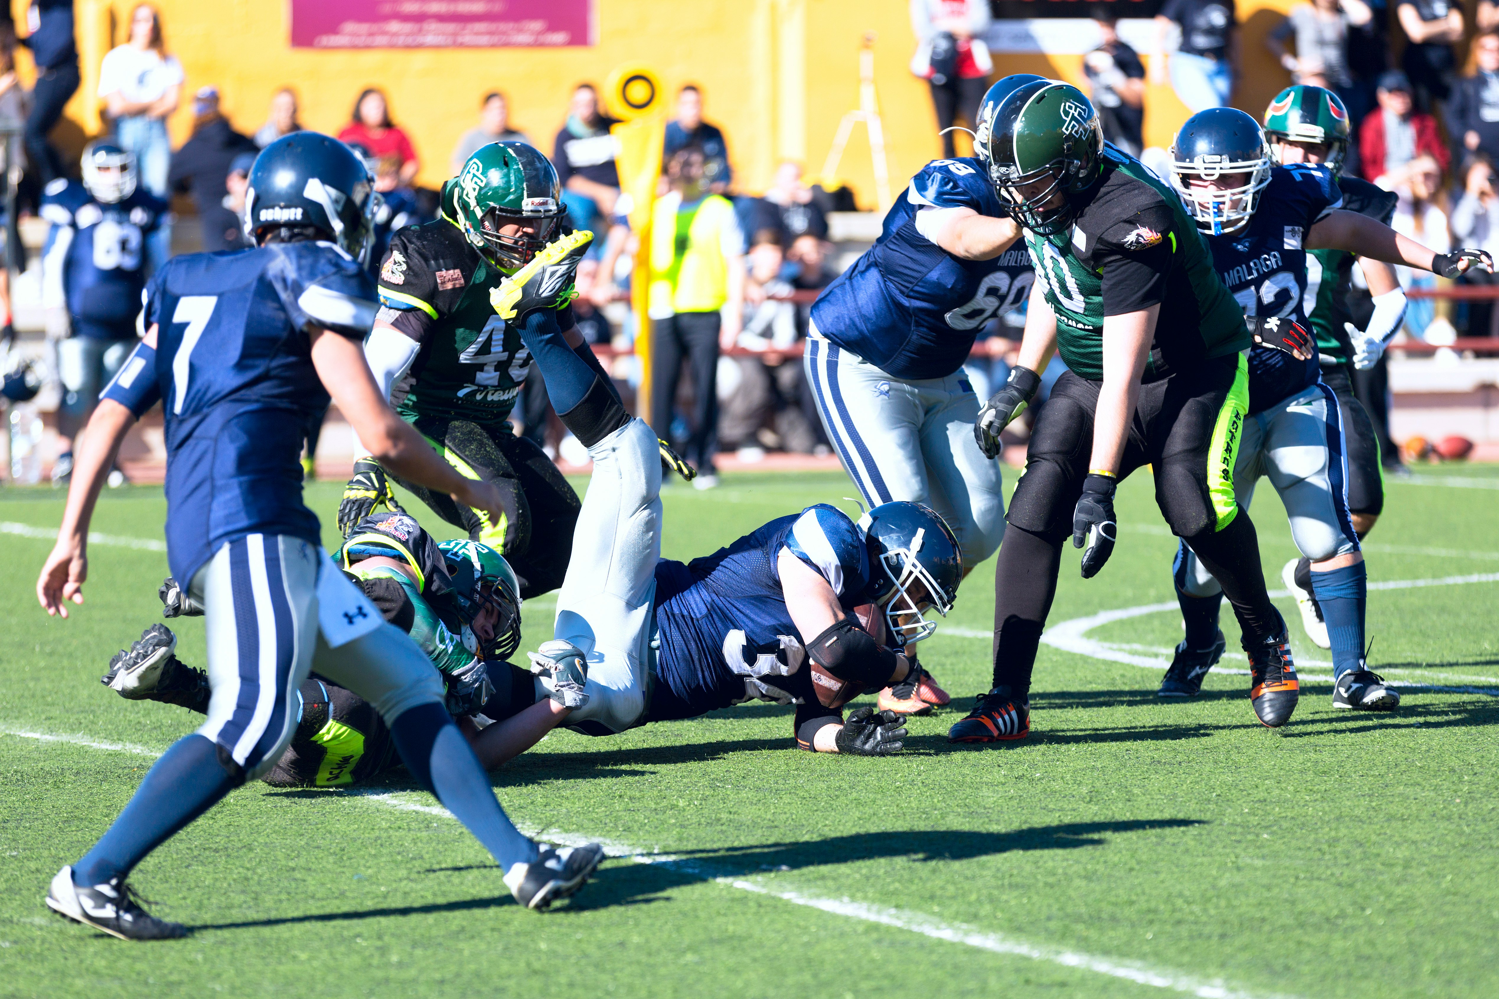
<instances>
[{"instance_id":1,"label":"dark green helmet of the player leaning forward beside number 68","mask_svg":"<svg viewBox=\"0 0 1499 999\"><path fill-rule=\"evenodd\" d=\"M1072 84L1039 79L1015 88L988 127L989 180L1015 220L1037 235L1072 225L1078 196L1103 168L1103 126Z\"/></svg>"}]
</instances>

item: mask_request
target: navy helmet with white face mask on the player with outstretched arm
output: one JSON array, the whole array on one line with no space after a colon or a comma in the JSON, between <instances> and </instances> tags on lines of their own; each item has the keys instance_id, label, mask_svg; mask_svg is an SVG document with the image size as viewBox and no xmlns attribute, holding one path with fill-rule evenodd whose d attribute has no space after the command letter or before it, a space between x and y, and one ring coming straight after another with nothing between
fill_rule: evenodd
<instances>
[{"instance_id":1,"label":"navy helmet with white face mask on the player with outstretched arm","mask_svg":"<svg viewBox=\"0 0 1499 999\"><path fill-rule=\"evenodd\" d=\"M1171 160L1172 186L1198 229L1210 235L1238 232L1249 225L1274 165L1264 129L1237 108L1208 108L1187 118L1171 144ZM1192 186L1193 178L1216 181L1235 175L1243 175L1244 183Z\"/></svg>"}]
</instances>

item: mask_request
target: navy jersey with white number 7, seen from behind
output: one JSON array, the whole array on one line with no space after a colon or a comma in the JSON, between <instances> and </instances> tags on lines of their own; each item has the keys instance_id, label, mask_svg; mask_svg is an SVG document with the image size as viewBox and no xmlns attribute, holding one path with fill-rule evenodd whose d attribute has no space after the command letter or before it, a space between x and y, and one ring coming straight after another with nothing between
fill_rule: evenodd
<instances>
[{"instance_id":1,"label":"navy jersey with white number 7, seen from behind","mask_svg":"<svg viewBox=\"0 0 1499 999\"><path fill-rule=\"evenodd\" d=\"M312 365L316 328L363 340L375 286L331 243L177 256L145 291L154 370L136 352L105 398L166 422L166 556L186 586L217 548L247 535L321 544L301 502L301 443L328 404Z\"/></svg>"}]
</instances>

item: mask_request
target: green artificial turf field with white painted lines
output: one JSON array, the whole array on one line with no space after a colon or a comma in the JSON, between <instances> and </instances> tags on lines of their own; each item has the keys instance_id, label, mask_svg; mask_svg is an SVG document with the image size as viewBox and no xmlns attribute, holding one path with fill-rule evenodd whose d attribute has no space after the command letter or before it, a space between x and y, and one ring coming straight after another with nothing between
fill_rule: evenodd
<instances>
[{"instance_id":1,"label":"green artificial turf field with white painted lines","mask_svg":"<svg viewBox=\"0 0 1499 999\"><path fill-rule=\"evenodd\" d=\"M1390 484L1372 581L1499 574L1499 469L1423 475ZM337 494L309 493L328 527ZM851 494L841 475L673 485L664 553L706 554L817 500L853 509ZM1063 559L1052 626L1172 599L1175 542L1145 475L1118 509L1096 580ZM159 539L163 512L159 490L112 491L94 530ZM1159 668L1042 646L1031 737L956 747L947 726L989 674L980 566L922 653L953 705L913 719L899 758L797 752L773 705L559 731L495 774L501 801L528 830L643 855L546 915L520 911L402 771L366 794L256 783L136 870L153 912L193 930L147 945L64 923L42 896L129 800L144 753L196 723L97 683L159 620L165 556L94 545L87 604L48 620L33 586L49 541L16 524L60 517L55 493L0 491L0 996L1499 995L1499 583L1372 592L1372 665L1456 690L1408 687L1394 716L1333 711L1328 653L1279 599L1304 677L1283 729L1255 723L1244 675L1163 704ZM1294 550L1268 487L1255 521L1279 589ZM523 649L550 613L528 605ZM201 620L174 628L201 665ZM1162 661L1178 637L1174 613L1085 635Z\"/></svg>"}]
</instances>

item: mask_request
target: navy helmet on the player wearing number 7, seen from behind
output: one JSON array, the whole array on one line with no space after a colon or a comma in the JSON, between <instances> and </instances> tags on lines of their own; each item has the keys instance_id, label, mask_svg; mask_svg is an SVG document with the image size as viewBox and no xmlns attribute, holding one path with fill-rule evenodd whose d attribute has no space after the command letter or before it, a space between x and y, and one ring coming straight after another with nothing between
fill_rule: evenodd
<instances>
[{"instance_id":1,"label":"navy helmet on the player wearing number 7, seen from behind","mask_svg":"<svg viewBox=\"0 0 1499 999\"><path fill-rule=\"evenodd\" d=\"M361 264L370 249L375 198L364 162L318 132L292 132L255 157L244 195L244 232L256 244L279 231L306 232Z\"/></svg>"}]
</instances>

